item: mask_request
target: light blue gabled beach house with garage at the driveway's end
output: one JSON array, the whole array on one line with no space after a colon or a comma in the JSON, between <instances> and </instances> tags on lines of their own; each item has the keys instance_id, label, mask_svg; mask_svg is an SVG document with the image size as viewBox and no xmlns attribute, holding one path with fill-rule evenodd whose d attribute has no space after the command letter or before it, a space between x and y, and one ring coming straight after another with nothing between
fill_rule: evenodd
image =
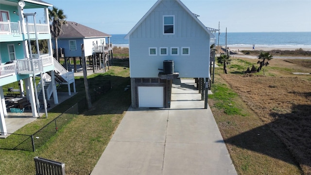
<instances>
[{"instance_id":1,"label":"light blue gabled beach house with garage at the driveway's end","mask_svg":"<svg viewBox=\"0 0 311 175\"><path fill-rule=\"evenodd\" d=\"M180 0L158 0L125 36L132 107L169 108L174 78L197 78L205 89L215 36L197 17Z\"/></svg>"}]
</instances>

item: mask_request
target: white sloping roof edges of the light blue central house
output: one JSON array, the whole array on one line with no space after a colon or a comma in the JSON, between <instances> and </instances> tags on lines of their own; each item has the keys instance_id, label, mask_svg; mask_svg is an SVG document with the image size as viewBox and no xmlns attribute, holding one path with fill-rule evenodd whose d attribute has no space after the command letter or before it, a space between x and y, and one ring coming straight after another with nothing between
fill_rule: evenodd
<instances>
[{"instance_id":1,"label":"white sloping roof edges of the light blue central house","mask_svg":"<svg viewBox=\"0 0 311 175\"><path fill-rule=\"evenodd\" d=\"M149 11L138 21L138 23L132 28L132 30L125 35L125 39L128 39L130 35L136 30L136 28L151 14L152 11L159 5L159 3L163 0L157 0L155 4L149 9ZM215 37L207 28L206 26L193 14L185 4L183 4L180 0L175 0L188 14L192 17L197 23L212 37ZM211 38L212 38L211 37Z\"/></svg>"}]
</instances>

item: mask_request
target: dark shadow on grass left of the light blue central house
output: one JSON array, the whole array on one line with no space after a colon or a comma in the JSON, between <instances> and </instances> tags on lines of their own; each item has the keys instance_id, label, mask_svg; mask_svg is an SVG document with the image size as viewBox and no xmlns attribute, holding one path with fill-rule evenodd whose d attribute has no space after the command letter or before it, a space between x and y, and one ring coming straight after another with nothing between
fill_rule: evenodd
<instances>
[{"instance_id":1,"label":"dark shadow on grass left of the light blue central house","mask_svg":"<svg viewBox=\"0 0 311 175\"><path fill-rule=\"evenodd\" d=\"M78 103L78 113L86 116L101 114L122 114L124 109L130 105L131 90L129 77L98 74L88 78L89 93L92 107L88 109L86 91L83 77L76 79L76 90L78 94L55 106L49 112L63 113L71 106ZM111 88L110 88L111 87ZM124 90L124 88L129 88Z\"/></svg>"}]
</instances>

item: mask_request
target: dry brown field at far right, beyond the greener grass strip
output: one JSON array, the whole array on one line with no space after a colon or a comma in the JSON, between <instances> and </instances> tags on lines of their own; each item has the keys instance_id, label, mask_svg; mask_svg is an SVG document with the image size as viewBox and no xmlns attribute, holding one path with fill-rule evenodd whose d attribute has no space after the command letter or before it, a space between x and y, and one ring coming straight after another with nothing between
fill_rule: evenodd
<instances>
[{"instance_id":1,"label":"dry brown field at far right, beyond the greener grass strip","mask_svg":"<svg viewBox=\"0 0 311 175\"><path fill-rule=\"evenodd\" d=\"M223 74L259 118L276 133L311 174L311 81L298 77Z\"/></svg>"}]
</instances>

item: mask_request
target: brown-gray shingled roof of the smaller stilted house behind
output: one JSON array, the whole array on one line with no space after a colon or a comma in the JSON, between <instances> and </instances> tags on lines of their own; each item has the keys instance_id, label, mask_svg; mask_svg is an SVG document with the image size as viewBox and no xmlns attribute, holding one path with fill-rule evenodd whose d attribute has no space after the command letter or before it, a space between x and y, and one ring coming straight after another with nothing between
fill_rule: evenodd
<instances>
[{"instance_id":1,"label":"brown-gray shingled roof of the smaller stilted house behind","mask_svg":"<svg viewBox=\"0 0 311 175\"><path fill-rule=\"evenodd\" d=\"M67 24L64 24L62 26L62 33L58 36L58 38L86 38L108 36L111 35L86 27L85 25L76 22L67 21Z\"/></svg>"}]
</instances>

